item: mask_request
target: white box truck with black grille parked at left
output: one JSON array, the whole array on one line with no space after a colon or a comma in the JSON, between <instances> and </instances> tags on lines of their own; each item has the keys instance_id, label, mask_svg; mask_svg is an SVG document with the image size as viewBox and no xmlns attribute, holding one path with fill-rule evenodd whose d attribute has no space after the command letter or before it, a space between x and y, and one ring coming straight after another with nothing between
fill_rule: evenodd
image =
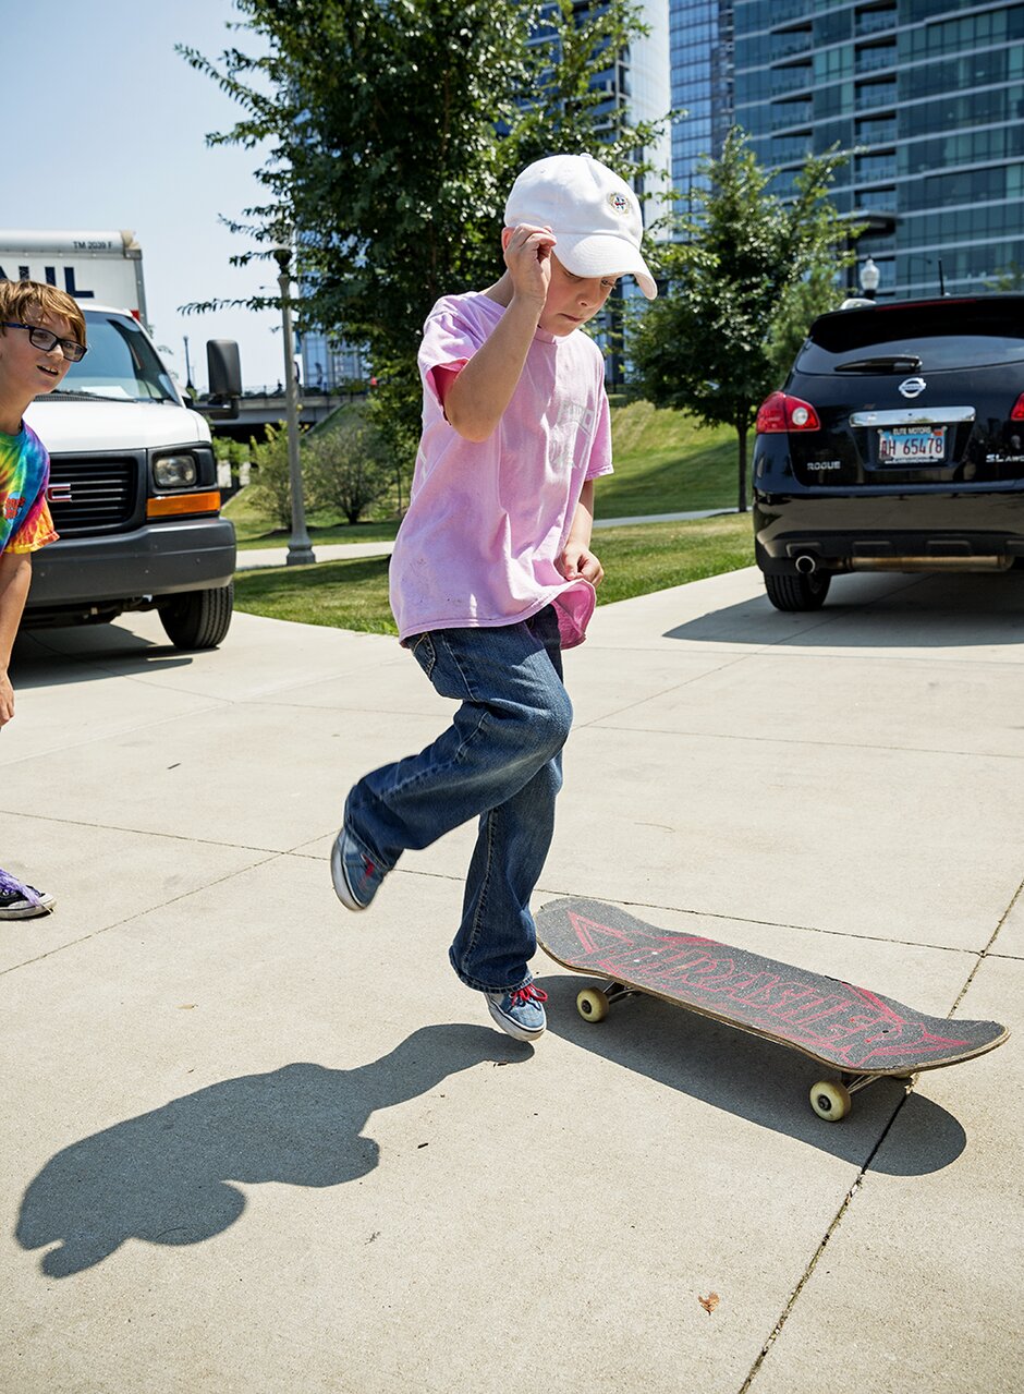
<instances>
[{"instance_id":1,"label":"white box truck with black grille parked at left","mask_svg":"<svg viewBox=\"0 0 1024 1394\"><path fill-rule=\"evenodd\" d=\"M60 541L32 559L22 623L77 625L157 609L178 648L213 648L231 623L234 527L220 517L210 428L145 330L132 233L0 231L0 280L79 302L89 351L25 418L50 452ZM208 344L210 415L237 415L238 348Z\"/></svg>"}]
</instances>

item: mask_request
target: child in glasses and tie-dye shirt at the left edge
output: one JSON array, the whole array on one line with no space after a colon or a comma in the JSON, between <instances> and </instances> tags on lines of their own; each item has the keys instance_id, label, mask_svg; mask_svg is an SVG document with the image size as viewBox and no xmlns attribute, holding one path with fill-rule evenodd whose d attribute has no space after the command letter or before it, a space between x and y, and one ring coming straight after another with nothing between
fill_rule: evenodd
<instances>
[{"instance_id":1,"label":"child in glasses and tie-dye shirt at the left edge","mask_svg":"<svg viewBox=\"0 0 1024 1394\"><path fill-rule=\"evenodd\" d=\"M50 457L22 415L85 353L85 318L63 290L0 280L0 728L14 717L11 650L32 580L32 552L53 542ZM53 896L0 868L0 919L28 919Z\"/></svg>"}]
</instances>

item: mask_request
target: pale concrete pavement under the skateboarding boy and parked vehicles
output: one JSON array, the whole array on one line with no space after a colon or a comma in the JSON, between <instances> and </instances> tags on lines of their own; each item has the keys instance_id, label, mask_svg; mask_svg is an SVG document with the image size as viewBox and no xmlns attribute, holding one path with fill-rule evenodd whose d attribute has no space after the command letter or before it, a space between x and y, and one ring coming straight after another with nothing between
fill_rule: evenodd
<instances>
[{"instance_id":1,"label":"pale concrete pavement under the skateboarding boy and parked vehicles","mask_svg":"<svg viewBox=\"0 0 1024 1394\"><path fill-rule=\"evenodd\" d=\"M589 895L1014 1025L1024 585L757 572L598 611L536 903ZM334 899L344 793L449 705L394 640L237 615L20 640L0 926L11 1394L1010 1394L1021 1033L815 1118L804 1057L649 999L492 1029L471 829ZM701 1299L711 1294L717 1305Z\"/></svg>"}]
</instances>

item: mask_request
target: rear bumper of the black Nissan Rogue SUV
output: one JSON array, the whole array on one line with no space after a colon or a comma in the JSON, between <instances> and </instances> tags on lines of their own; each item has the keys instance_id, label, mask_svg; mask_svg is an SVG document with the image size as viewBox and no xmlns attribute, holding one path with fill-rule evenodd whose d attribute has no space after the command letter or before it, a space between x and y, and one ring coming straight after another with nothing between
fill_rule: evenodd
<instances>
[{"instance_id":1,"label":"rear bumper of the black Nissan Rogue SUV","mask_svg":"<svg viewBox=\"0 0 1024 1394\"><path fill-rule=\"evenodd\" d=\"M754 495L762 572L790 576L797 559L822 572L988 570L1024 558L1024 492ZM804 563L805 569L809 569Z\"/></svg>"}]
</instances>

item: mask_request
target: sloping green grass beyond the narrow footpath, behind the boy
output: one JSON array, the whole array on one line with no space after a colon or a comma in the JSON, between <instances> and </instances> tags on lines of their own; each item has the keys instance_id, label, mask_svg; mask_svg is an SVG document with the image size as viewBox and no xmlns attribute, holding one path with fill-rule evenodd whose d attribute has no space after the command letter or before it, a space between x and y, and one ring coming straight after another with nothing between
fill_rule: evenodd
<instances>
[{"instance_id":1,"label":"sloping green grass beyond the narrow footpath, behind the boy","mask_svg":"<svg viewBox=\"0 0 1024 1394\"><path fill-rule=\"evenodd\" d=\"M598 514L639 517L646 513L691 513L736 507L736 434L729 427L699 427L681 411L634 401L612 410L616 473L598 481ZM241 549L284 546L287 530L274 530L256 513L247 491L224 507ZM350 527L337 517L311 513L309 537L316 544L390 541L394 517Z\"/></svg>"}]
</instances>

